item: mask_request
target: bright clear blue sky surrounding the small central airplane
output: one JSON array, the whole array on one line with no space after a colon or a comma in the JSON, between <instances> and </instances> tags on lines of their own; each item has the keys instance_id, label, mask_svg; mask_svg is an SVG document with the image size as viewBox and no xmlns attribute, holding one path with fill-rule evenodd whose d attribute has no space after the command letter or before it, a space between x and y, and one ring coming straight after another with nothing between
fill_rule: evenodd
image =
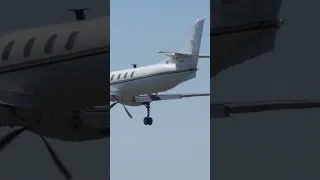
<instances>
[{"instance_id":1,"label":"bright clear blue sky surrounding the small central airplane","mask_svg":"<svg viewBox=\"0 0 320 180\"><path fill-rule=\"evenodd\" d=\"M201 53L210 52L210 1L111 1L111 70L149 65L188 40L197 18L206 18ZM167 93L210 92L210 60L199 61L197 78ZM142 122L146 108L121 105L111 111L111 179L205 180L210 178L210 99L151 103L154 124Z\"/></svg>"}]
</instances>

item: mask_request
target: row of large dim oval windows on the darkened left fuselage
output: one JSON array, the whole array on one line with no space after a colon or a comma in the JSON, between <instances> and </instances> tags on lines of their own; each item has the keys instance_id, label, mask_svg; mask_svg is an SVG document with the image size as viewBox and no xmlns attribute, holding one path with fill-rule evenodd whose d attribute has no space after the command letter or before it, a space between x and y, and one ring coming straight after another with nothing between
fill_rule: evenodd
<instances>
[{"instance_id":1,"label":"row of large dim oval windows on the darkened left fuselage","mask_svg":"<svg viewBox=\"0 0 320 180\"><path fill-rule=\"evenodd\" d=\"M71 50L73 48L78 35L79 35L79 32L75 32L75 31L70 34L70 36L65 44L66 51ZM57 38L58 38L58 35L53 34L47 40L47 43L44 46L44 52L46 54L50 54L53 52L54 45L55 45ZM31 51L32 51L32 48L33 48L35 41L36 41L35 37L32 37L27 41L26 45L24 46L24 51L23 51L24 57L27 58L27 57L31 56ZM15 41L10 41L6 44L6 46L4 46L3 52L2 52L2 60L9 60L10 53L13 49L14 44L15 44Z\"/></svg>"}]
</instances>

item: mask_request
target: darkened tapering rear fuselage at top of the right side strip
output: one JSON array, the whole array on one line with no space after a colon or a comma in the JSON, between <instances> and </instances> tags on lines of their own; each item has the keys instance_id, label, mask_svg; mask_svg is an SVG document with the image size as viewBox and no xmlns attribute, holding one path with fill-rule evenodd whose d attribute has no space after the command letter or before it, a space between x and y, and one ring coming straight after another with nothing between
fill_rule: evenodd
<instances>
[{"instance_id":1,"label":"darkened tapering rear fuselage at top of the right side strip","mask_svg":"<svg viewBox=\"0 0 320 180\"><path fill-rule=\"evenodd\" d=\"M211 77L275 48L281 0L213 0Z\"/></svg>"}]
</instances>

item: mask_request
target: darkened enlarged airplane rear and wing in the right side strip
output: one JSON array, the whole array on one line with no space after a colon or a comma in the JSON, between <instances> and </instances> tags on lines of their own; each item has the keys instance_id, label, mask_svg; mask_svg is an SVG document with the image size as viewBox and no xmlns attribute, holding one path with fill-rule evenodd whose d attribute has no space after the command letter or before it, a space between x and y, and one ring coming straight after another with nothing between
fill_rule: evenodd
<instances>
[{"instance_id":1,"label":"darkened enlarged airplane rear and wing in the right side strip","mask_svg":"<svg viewBox=\"0 0 320 180\"><path fill-rule=\"evenodd\" d=\"M211 83L225 70L270 53L284 20L279 17L281 0L261 2L212 1ZM232 53L230 53L232 52ZM210 117L225 119L235 114L319 108L319 100L268 100L216 102L211 98Z\"/></svg>"}]
</instances>

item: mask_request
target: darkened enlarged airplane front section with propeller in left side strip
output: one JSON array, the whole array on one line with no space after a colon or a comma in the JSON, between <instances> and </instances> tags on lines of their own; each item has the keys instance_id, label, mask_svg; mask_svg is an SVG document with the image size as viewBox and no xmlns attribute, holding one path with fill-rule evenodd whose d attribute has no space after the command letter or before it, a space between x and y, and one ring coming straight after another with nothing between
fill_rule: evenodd
<instances>
[{"instance_id":1,"label":"darkened enlarged airplane front section with propeller in left side strip","mask_svg":"<svg viewBox=\"0 0 320 180\"><path fill-rule=\"evenodd\" d=\"M0 127L22 127L2 137L0 151L22 132L33 132L66 179L72 176L45 137L71 142L110 137L109 109L103 107L110 17L87 19L85 10L70 10L73 22L0 36Z\"/></svg>"}]
</instances>

